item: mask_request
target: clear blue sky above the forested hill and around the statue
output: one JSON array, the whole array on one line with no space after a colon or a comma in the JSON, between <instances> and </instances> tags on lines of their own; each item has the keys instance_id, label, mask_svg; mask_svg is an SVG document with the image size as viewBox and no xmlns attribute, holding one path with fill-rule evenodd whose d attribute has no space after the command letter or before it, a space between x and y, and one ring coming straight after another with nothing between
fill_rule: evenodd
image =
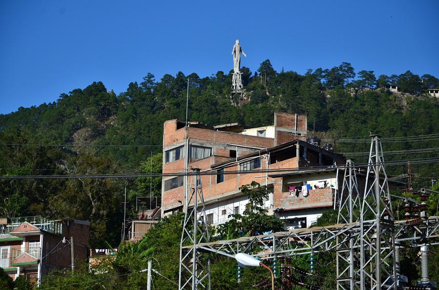
<instances>
[{"instance_id":1,"label":"clear blue sky above the forested hill and around the statue","mask_svg":"<svg viewBox=\"0 0 439 290\"><path fill-rule=\"evenodd\" d=\"M0 1L0 114L104 82L116 94L147 72L200 77L269 58L300 74L355 71L439 77L439 1Z\"/></svg>"}]
</instances>

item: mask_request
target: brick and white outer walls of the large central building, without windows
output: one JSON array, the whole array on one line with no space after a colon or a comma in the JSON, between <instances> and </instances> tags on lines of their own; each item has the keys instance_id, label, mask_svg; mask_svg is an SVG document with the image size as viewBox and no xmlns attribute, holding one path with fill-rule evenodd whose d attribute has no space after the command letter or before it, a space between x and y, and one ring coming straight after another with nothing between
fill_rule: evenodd
<instances>
[{"instance_id":1,"label":"brick and white outer walls of the large central building, without windows","mask_svg":"<svg viewBox=\"0 0 439 290\"><path fill-rule=\"evenodd\" d=\"M181 126L183 127L180 128ZM258 131L260 130L266 130L265 137L257 136ZM199 128L194 126L186 128L184 127L184 124L181 122L178 123L177 120L169 120L164 124L163 172L185 172L188 158L188 143L191 146L209 147L211 148L211 156L204 159L191 158L188 160L187 166L189 171L195 168L203 171L210 170L214 164L230 161L229 165L225 164L221 167L226 173L223 175L223 180L221 182L217 182L217 175L201 175L202 190L206 203L206 214L209 216L208 220L210 223L216 225L229 220L230 218L228 216L230 213L234 213L235 208L237 208L239 213L242 214L245 210L245 205L249 201L248 198L243 196L239 191L239 187L245 184L250 184L252 181L256 181L262 185L267 185L271 191L269 198L265 202L265 207L267 209L285 209L281 214L282 218L290 219L290 217L302 218L306 216L306 224L308 226L314 222L317 216L321 215L323 211L333 206L334 189L313 189L308 196L292 196L288 190L289 184L293 184L297 180L303 182L306 179L305 181L313 187L316 182L322 180L326 180L328 185L334 185L334 183L336 183L335 174L317 174L316 176L307 175L306 177L303 175L291 175L287 177L273 178L269 177L267 174L257 172L267 169L267 164L270 163L268 162L269 155L266 153L260 157L256 155L245 160L242 159L237 161L237 158L239 157L258 152L258 148L271 148L297 139L306 140L306 134L306 116L296 116L295 114L276 113L274 116L274 125L247 129L241 133L215 131L209 128ZM166 163L166 151L179 146L184 146L184 154L180 156L181 158L174 162ZM299 160L295 155L298 151L296 151L294 144L292 144L292 146L289 146L287 149L287 155L289 156L287 159L282 160L285 157L275 158L276 160L271 160L272 164L269 165L269 168L297 168L299 166ZM302 144L300 146L306 145ZM301 147L300 150L300 156L304 155L304 149ZM326 151L322 153L321 150L313 150L317 150L314 152L317 156L315 160L316 162L322 162L319 154L332 156L331 153L327 153ZM311 151L308 152L310 156L313 154ZM227 174L227 172L240 171L239 164L253 158L261 158L259 168L249 170L246 173ZM328 163L329 161L325 162ZM329 163L333 164L333 160L331 159L331 162ZM171 213L171 209L182 208L184 202L184 190L186 186L188 186L186 185L186 182L188 182L189 185L193 183L193 177L189 176L187 181L185 179L182 186L165 191L164 184L166 180L173 177L174 176L165 177L162 183L162 213L164 215ZM290 224L290 226L294 226L294 223Z\"/></svg>"}]
</instances>

